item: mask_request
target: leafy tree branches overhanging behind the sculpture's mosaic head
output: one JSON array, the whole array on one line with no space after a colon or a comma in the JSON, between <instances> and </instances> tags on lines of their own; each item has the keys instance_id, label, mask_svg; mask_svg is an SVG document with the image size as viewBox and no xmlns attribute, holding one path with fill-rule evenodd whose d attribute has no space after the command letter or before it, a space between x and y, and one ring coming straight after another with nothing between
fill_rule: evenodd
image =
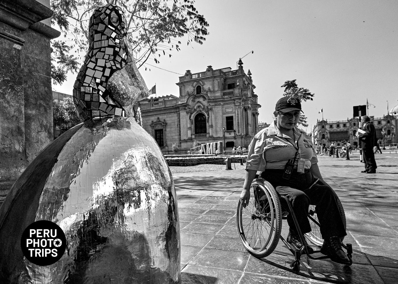
<instances>
[{"instance_id":1,"label":"leafy tree branches overhanging behind the sculpture's mosaic head","mask_svg":"<svg viewBox=\"0 0 398 284\"><path fill-rule=\"evenodd\" d=\"M114 3L124 10L128 38L131 42L134 57L139 68L149 58L159 63L160 56L172 56L172 51L179 51L179 38L187 36L187 45L193 41L203 44L208 35L209 24L193 6L190 0L52 0L51 9L54 15L53 24L57 24L61 32L73 37L74 44L69 49L65 41L53 42L54 58L60 61L58 68L53 66L54 81L65 80L68 70L76 72L74 56L67 56L70 49L77 54L86 54L88 49L88 24L92 12L103 5Z\"/></svg>"}]
</instances>

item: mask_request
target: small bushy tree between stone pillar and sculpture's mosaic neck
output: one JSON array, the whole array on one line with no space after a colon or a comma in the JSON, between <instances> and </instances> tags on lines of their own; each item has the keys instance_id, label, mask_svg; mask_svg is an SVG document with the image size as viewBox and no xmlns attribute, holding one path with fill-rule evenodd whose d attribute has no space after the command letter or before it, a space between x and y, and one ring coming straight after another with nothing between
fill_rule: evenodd
<instances>
[{"instance_id":1,"label":"small bushy tree between stone pillar and sculpture's mosaic neck","mask_svg":"<svg viewBox=\"0 0 398 284\"><path fill-rule=\"evenodd\" d=\"M66 97L59 103L53 100L53 121L61 134L82 122L72 98Z\"/></svg>"}]
</instances>

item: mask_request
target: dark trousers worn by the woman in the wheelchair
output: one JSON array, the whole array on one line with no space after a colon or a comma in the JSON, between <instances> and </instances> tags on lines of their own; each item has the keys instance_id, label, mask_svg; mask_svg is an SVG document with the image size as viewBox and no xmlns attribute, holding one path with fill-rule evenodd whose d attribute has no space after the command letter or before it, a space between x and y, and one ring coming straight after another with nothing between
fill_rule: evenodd
<instances>
[{"instance_id":1,"label":"dark trousers worn by the woman in the wheelchair","mask_svg":"<svg viewBox=\"0 0 398 284\"><path fill-rule=\"evenodd\" d=\"M290 180L283 179L282 175L283 170L265 170L261 177L271 183L279 195L290 200L302 233L311 231L307 214L308 206L312 204L316 206L322 238L347 235L337 203L338 197L329 185L318 181L308 189L315 181L310 171L294 173ZM287 223L291 229L296 228L291 214L287 216Z\"/></svg>"}]
</instances>

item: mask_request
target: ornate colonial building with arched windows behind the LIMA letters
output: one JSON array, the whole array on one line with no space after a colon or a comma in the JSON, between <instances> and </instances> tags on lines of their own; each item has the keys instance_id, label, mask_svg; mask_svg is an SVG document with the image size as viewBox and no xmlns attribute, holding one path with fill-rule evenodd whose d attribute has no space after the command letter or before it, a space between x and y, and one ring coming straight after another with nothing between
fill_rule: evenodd
<instances>
[{"instance_id":1,"label":"ornate colonial building with arched windows behind the LIMA letters","mask_svg":"<svg viewBox=\"0 0 398 284\"><path fill-rule=\"evenodd\" d=\"M176 83L179 96L151 97L135 105L141 111L142 126L164 154L176 144L179 152L187 152L196 141L222 141L224 149L248 146L258 132L258 109L250 70L243 62L238 69L213 70L192 74L187 70Z\"/></svg>"}]
</instances>

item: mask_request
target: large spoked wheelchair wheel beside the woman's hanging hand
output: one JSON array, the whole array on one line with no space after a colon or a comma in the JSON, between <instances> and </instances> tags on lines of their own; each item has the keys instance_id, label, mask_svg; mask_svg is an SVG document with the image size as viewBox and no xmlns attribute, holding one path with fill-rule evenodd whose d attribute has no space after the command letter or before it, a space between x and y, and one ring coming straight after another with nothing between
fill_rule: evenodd
<instances>
[{"instance_id":1,"label":"large spoked wheelchair wheel beside the woman's hanging hand","mask_svg":"<svg viewBox=\"0 0 398 284\"><path fill-rule=\"evenodd\" d=\"M236 224L249 253L261 258L273 252L281 235L282 209L275 189L265 179L252 182L246 207L239 200Z\"/></svg>"}]
</instances>

